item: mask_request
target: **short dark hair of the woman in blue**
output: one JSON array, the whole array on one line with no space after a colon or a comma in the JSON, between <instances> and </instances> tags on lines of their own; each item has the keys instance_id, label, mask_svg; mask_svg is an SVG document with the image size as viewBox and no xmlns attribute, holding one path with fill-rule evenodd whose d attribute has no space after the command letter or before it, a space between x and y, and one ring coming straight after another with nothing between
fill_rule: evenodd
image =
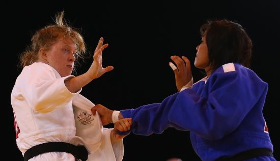
<instances>
[{"instance_id":1,"label":"short dark hair of the woman in blue","mask_svg":"<svg viewBox=\"0 0 280 161\"><path fill-rule=\"evenodd\" d=\"M229 20L208 20L200 28L206 36L209 63L213 70L223 64L236 62L250 66L252 41L238 23Z\"/></svg>"}]
</instances>

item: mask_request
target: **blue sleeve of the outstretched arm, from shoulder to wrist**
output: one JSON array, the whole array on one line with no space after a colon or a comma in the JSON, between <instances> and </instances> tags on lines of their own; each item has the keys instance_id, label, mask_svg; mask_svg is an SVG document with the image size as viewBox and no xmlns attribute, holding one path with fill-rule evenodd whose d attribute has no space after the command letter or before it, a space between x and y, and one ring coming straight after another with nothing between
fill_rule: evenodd
<instances>
[{"instance_id":1,"label":"blue sleeve of the outstretched arm, from shoulder to wrist","mask_svg":"<svg viewBox=\"0 0 280 161\"><path fill-rule=\"evenodd\" d=\"M133 119L131 130L137 135L161 133L175 127L191 130L206 139L220 139L238 127L254 104L265 98L261 95L266 92L267 84L255 73L215 73L202 90L186 89L160 104L121 113Z\"/></svg>"}]
</instances>

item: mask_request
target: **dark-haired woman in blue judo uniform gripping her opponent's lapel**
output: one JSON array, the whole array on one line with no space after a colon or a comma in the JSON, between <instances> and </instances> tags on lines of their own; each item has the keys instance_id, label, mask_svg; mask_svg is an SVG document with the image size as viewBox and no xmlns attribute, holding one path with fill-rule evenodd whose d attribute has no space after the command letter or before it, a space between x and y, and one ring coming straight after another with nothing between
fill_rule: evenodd
<instances>
[{"instance_id":1,"label":"dark-haired woman in blue judo uniform gripping her opponent's lapel","mask_svg":"<svg viewBox=\"0 0 280 161\"><path fill-rule=\"evenodd\" d=\"M192 84L189 60L172 56L179 92L120 114L98 104L93 113L102 115L103 124L116 114L118 119L132 118L136 135L162 133L168 127L190 131L193 149L202 160L275 160L262 113L268 84L247 68L250 38L240 24L229 20L208 21L200 32L194 66L204 69L206 77Z\"/></svg>"}]
</instances>

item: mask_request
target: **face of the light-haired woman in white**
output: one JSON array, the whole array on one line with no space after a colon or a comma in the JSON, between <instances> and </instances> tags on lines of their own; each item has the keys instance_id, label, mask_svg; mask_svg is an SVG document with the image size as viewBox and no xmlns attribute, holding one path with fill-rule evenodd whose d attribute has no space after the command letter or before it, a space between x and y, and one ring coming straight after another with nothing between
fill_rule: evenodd
<instances>
[{"instance_id":1,"label":"face of the light-haired woman in white","mask_svg":"<svg viewBox=\"0 0 280 161\"><path fill-rule=\"evenodd\" d=\"M74 68L75 51L75 43L67 39L61 39L55 42L46 52L46 60L62 77L68 76L71 75Z\"/></svg>"}]
</instances>

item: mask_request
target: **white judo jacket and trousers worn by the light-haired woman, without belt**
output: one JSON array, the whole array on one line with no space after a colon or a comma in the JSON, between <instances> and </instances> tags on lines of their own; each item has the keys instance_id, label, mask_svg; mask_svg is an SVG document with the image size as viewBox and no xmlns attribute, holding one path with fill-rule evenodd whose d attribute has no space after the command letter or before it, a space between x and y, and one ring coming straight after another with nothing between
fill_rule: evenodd
<instances>
[{"instance_id":1,"label":"white judo jacket and trousers worn by the light-haired woman, without belt","mask_svg":"<svg viewBox=\"0 0 280 161\"><path fill-rule=\"evenodd\" d=\"M69 77L72 75L61 77L45 63L23 68L11 95L19 150L24 154L45 142L67 142L85 145L90 151L88 160L122 160L122 140L111 144L112 129L103 128L99 115L92 115L94 104L79 94L81 90L71 93L65 87L64 80ZM30 160L75 158L65 152L50 152Z\"/></svg>"}]
</instances>

